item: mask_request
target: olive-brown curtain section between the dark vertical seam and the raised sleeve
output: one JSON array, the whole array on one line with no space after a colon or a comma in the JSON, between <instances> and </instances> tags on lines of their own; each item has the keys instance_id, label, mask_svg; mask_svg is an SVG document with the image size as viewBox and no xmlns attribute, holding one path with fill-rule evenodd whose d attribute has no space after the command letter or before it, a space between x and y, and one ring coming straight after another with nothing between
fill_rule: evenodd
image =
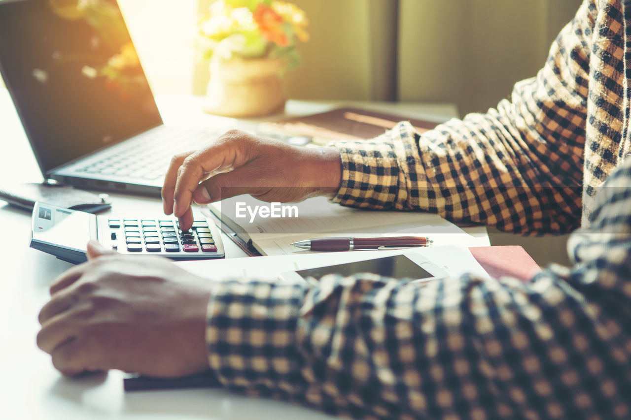
<instances>
[{"instance_id":1,"label":"olive-brown curtain section between the dark vertical seam and the raised sleeve","mask_svg":"<svg viewBox=\"0 0 631 420\"><path fill-rule=\"evenodd\" d=\"M581 0L400 0L399 100L484 112L543 66Z\"/></svg>"}]
</instances>

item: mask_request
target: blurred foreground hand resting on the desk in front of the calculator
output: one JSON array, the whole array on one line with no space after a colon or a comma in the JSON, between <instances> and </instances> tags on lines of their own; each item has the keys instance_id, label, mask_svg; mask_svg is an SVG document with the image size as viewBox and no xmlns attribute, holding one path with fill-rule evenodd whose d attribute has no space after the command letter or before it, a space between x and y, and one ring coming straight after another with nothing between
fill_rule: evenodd
<instances>
[{"instance_id":1,"label":"blurred foreground hand resting on the desk in front of the calculator","mask_svg":"<svg viewBox=\"0 0 631 420\"><path fill-rule=\"evenodd\" d=\"M208 370L210 281L158 257L88 246L50 287L37 345L64 375L119 369L155 377Z\"/></svg>"}]
</instances>

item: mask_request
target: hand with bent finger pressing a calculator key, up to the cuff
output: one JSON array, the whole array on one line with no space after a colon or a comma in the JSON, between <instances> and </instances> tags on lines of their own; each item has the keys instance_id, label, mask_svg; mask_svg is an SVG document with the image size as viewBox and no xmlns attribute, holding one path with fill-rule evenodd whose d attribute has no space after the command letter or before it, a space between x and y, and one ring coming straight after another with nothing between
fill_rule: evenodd
<instances>
[{"instance_id":1,"label":"hand with bent finger pressing a calculator key, up to the cuff","mask_svg":"<svg viewBox=\"0 0 631 420\"><path fill-rule=\"evenodd\" d=\"M251 194L268 202L333 196L341 180L335 148L302 148L231 130L208 146L174 156L162 187L165 214L192 225L191 204Z\"/></svg>"}]
</instances>

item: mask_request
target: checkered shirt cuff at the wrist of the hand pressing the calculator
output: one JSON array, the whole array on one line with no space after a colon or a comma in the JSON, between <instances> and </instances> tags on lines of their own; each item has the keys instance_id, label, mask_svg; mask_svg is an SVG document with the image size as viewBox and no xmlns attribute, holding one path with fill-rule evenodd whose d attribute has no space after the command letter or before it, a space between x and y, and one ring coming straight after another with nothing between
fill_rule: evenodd
<instances>
[{"instance_id":1,"label":"checkered shirt cuff at the wrist of the hand pressing the calculator","mask_svg":"<svg viewBox=\"0 0 631 420\"><path fill-rule=\"evenodd\" d=\"M387 208L405 200L407 183L399 159L405 159L414 143L415 131L409 122L399 122L374 139L329 143L338 149L342 162L340 188L332 201L345 206Z\"/></svg>"}]
</instances>

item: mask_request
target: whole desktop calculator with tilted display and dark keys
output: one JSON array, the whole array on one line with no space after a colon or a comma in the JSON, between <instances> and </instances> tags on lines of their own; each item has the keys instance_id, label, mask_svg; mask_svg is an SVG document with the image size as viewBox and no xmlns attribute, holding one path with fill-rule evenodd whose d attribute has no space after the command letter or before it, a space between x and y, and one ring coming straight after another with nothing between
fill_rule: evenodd
<instances>
[{"instance_id":1,"label":"whole desktop calculator with tilted display and dark keys","mask_svg":"<svg viewBox=\"0 0 631 420\"><path fill-rule=\"evenodd\" d=\"M79 264L86 260L86 245L97 240L119 254L161 255L173 260L225 257L220 231L208 218L196 218L182 231L176 218L97 216L35 203L31 248Z\"/></svg>"}]
</instances>

